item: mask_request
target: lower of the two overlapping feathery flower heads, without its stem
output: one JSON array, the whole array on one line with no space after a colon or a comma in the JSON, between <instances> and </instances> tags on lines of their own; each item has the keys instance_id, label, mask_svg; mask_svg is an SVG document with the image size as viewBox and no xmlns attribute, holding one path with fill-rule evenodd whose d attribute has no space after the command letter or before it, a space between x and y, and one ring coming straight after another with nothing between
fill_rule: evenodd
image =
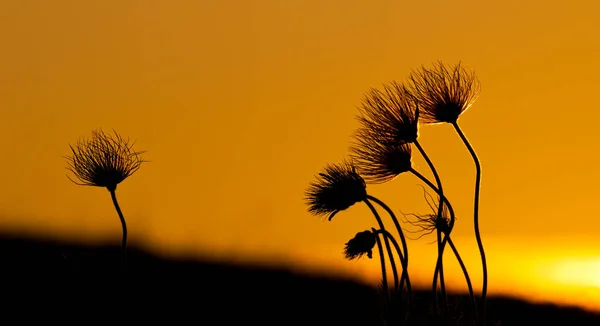
<instances>
[{"instance_id":1,"label":"lower of the two overlapping feathery flower heads, without its stem","mask_svg":"<svg viewBox=\"0 0 600 326\"><path fill-rule=\"evenodd\" d=\"M384 183L412 168L409 143L397 143L371 129L354 134L350 157L370 183Z\"/></svg>"}]
</instances>

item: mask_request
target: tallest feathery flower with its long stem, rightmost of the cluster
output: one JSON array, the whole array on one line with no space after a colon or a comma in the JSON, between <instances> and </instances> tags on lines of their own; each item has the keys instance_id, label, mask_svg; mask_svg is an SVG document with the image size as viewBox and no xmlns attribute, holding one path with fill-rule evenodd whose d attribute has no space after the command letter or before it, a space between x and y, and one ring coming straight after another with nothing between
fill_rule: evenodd
<instances>
[{"instance_id":1,"label":"tallest feathery flower with its long stem, rightmost of the cluster","mask_svg":"<svg viewBox=\"0 0 600 326\"><path fill-rule=\"evenodd\" d=\"M409 77L410 90L417 98L422 111L422 121L425 123L449 123L467 147L475 163L475 195L473 220L475 237L481 255L483 268L482 286L482 323L485 324L485 310L487 297L487 262L481 233L479 231L479 192L481 185L481 164L475 150L467 140L458 125L460 115L466 111L478 98L480 84L474 71L465 69L459 62L453 66L436 62L433 68L421 67L413 71Z\"/></svg>"}]
</instances>

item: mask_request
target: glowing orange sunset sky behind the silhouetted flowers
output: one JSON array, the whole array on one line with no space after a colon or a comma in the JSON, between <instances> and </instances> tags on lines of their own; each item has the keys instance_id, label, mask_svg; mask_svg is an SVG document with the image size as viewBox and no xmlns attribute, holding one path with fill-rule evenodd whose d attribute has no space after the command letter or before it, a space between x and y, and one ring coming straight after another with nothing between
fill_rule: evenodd
<instances>
[{"instance_id":1,"label":"glowing orange sunset sky behind the silhouetted flowers","mask_svg":"<svg viewBox=\"0 0 600 326\"><path fill-rule=\"evenodd\" d=\"M482 83L460 123L483 165L491 293L600 309L600 4L568 3L0 1L0 226L118 244L108 192L71 184L62 158L115 128L152 161L117 191L133 243L376 280L377 261L341 255L373 226L367 208L327 223L303 192L346 155L369 87L462 60ZM479 286L471 158L450 126L424 127L421 142ZM369 191L426 212L417 184L405 175ZM409 248L413 278L429 282L427 242Z\"/></svg>"}]
</instances>

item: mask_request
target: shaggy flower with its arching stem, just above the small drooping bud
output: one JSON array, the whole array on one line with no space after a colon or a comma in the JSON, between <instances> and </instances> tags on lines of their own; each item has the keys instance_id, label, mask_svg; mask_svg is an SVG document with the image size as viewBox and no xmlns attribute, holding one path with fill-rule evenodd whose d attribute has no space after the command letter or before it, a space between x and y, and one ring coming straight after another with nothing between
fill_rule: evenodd
<instances>
[{"instance_id":1,"label":"shaggy flower with its arching stem, just above the small drooping bud","mask_svg":"<svg viewBox=\"0 0 600 326\"><path fill-rule=\"evenodd\" d=\"M371 201L375 201L389 212L391 210L381 200L367 194L366 183L358 172L356 172L353 163L343 161L340 164L328 164L325 166L324 171L318 174L316 179L316 181L310 182L305 193L309 212L314 215L327 216L328 220L331 221L337 213L362 201L373 213L379 228L385 230L383 221ZM399 281L394 256L391 251L389 239L384 237L384 242L394 275L394 288L397 289ZM406 255L407 252L404 252L404 256L400 256L403 274L405 274L408 267L405 263ZM410 280L406 278L406 281L410 287Z\"/></svg>"}]
</instances>

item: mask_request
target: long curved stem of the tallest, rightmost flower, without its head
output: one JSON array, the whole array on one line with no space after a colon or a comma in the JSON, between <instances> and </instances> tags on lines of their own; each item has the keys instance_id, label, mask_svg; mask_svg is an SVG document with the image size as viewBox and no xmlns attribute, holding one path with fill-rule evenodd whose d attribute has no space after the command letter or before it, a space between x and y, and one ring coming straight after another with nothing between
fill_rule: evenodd
<instances>
[{"instance_id":1,"label":"long curved stem of the tallest, rightmost flower, without its head","mask_svg":"<svg viewBox=\"0 0 600 326\"><path fill-rule=\"evenodd\" d=\"M481 318L482 318L482 324L485 325L486 323L486 317L485 317L485 310L486 310L486 301L487 301L487 260L485 258L485 251L483 250L483 242L481 241L481 233L479 231L479 192L480 192L480 187L481 187L481 164L479 162L479 158L477 158L477 154L475 153L475 150L473 149L473 147L471 146L471 143L469 143L469 140L467 140L467 137L463 134L462 130L460 129L460 127L458 126L458 122L454 122L452 123L452 125L454 126L454 129L456 130L456 133L458 133L458 135L460 136L460 139L463 141L463 143L465 143L465 146L467 147L467 149L469 150L469 153L471 154L471 157L473 158L473 162L475 162L475 198L473 200L473 224L474 224L474 228L475 228L475 238L477 239L477 246L479 247L479 253L481 255L481 266L483 268L483 285L481 288L481 301L483 302L482 305L482 313L481 313Z\"/></svg>"}]
</instances>

